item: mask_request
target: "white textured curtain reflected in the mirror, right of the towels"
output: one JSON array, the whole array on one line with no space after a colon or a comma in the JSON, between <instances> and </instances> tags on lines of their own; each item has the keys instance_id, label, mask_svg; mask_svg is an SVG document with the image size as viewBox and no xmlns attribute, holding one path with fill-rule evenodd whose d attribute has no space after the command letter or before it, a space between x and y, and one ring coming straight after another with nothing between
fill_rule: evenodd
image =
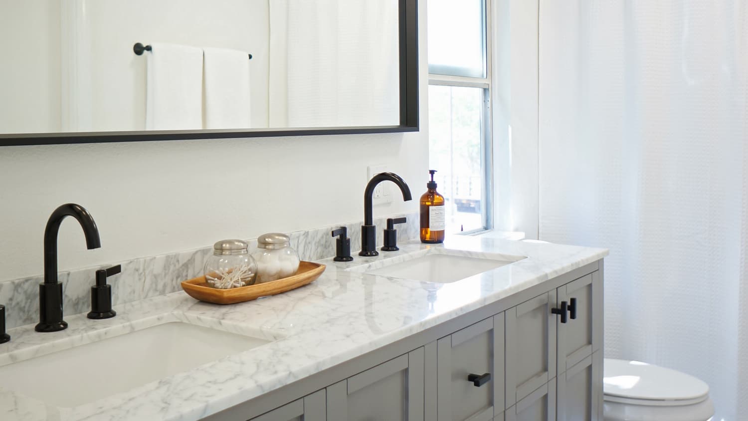
<instances>
[{"instance_id":1,"label":"white textured curtain reflected in the mirror, right of the towels","mask_svg":"<svg viewBox=\"0 0 748 421\"><path fill-rule=\"evenodd\" d=\"M399 124L397 0L274 3L272 122L290 127Z\"/></svg>"}]
</instances>

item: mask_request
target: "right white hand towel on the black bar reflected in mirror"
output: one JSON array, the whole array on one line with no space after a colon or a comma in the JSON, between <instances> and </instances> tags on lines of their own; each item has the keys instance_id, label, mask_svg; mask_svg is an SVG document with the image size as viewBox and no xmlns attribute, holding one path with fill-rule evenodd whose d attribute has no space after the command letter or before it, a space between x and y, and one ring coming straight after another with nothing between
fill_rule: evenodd
<instances>
[{"instance_id":1,"label":"right white hand towel on the black bar reflected in mirror","mask_svg":"<svg viewBox=\"0 0 748 421\"><path fill-rule=\"evenodd\" d=\"M205 128L251 127L249 57L234 49L203 49Z\"/></svg>"}]
</instances>

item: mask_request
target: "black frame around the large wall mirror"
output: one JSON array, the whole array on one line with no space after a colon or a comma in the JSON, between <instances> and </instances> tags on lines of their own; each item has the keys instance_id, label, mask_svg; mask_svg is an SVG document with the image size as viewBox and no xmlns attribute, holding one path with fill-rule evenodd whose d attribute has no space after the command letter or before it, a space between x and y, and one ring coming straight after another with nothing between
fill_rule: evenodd
<instances>
[{"instance_id":1,"label":"black frame around the large wall mirror","mask_svg":"<svg viewBox=\"0 0 748 421\"><path fill-rule=\"evenodd\" d=\"M355 135L417 132L418 0L399 0L400 123L398 126L314 127L292 129L153 130L141 132L65 132L0 134L0 146L176 141L275 136Z\"/></svg>"}]
</instances>

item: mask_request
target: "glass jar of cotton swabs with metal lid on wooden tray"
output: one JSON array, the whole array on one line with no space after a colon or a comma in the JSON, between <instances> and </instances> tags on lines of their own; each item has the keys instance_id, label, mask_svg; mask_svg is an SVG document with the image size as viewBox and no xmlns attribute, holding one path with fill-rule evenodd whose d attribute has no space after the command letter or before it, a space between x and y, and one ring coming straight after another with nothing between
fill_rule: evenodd
<instances>
[{"instance_id":1,"label":"glass jar of cotton swabs with metal lid on wooden tray","mask_svg":"<svg viewBox=\"0 0 748 421\"><path fill-rule=\"evenodd\" d=\"M221 240L213 245L203 270L205 281L218 289L252 285L257 278L257 262L242 240Z\"/></svg>"}]
</instances>

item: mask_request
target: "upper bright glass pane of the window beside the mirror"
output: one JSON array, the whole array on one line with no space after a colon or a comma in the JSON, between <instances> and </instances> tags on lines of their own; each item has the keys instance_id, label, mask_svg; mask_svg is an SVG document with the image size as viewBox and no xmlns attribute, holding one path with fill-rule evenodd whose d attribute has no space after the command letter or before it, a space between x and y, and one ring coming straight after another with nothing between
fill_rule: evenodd
<instances>
[{"instance_id":1,"label":"upper bright glass pane of the window beside the mirror","mask_svg":"<svg viewBox=\"0 0 748 421\"><path fill-rule=\"evenodd\" d=\"M485 77L485 0L429 0L429 73Z\"/></svg>"}]
</instances>

